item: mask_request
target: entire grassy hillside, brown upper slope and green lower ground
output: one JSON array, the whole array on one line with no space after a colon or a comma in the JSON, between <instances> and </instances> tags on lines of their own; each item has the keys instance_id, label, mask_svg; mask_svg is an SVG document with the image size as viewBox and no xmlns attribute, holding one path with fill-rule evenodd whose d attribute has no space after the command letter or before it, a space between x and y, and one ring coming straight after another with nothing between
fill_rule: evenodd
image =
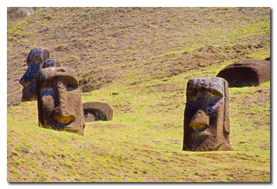
<instances>
[{"instance_id":1,"label":"entire grassy hillside, brown upper slope and green lower ground","mask_svg":"<svg viewBox=\"0 0 277 189\"><path fill-rule=\"evenodd\" d=\"M9 26L8 181L269 182L270 82L229 89L234 151L181 150L188 80L269 57L269 26L269 8L45 8ZM17 101L34 46L96 84L82 102L113 120L37 127L37 102Z\"/></svg>"}]
</instances>

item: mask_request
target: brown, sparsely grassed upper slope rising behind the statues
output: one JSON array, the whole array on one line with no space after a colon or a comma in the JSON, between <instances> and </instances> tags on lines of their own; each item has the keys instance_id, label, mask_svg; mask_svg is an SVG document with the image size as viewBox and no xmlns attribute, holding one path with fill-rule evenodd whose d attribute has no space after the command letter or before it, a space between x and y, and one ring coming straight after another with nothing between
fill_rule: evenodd
<instances>
[{"instance_id":1,"label":"brown, sparsely grassed upper slope rising behind the statues","mask_svg":"<svg viewBox=\"0 0 277 189\"><path fill-rule=\"evenodd\" d=\"M78 72L95 89L144 82L270 48L269 8L42 8L8 26L8 105L30 49Z\"/></svg>"}]
</instances>

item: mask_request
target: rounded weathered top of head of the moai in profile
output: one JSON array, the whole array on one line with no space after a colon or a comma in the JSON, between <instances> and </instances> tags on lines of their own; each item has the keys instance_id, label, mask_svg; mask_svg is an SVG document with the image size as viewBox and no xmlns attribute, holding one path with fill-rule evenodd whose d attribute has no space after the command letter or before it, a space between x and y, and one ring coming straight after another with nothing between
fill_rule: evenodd
<instances>
[{"instance_id":1,"label":"rounded weathered top of head of the moai in profile","mask_svg":"<svg viewBox=\"0 0 277 189\"><path fill-rule=\"evenodd\" d=\"M27 61L27 65L29 65L31 61L35 63L40 63L40 62L45 62L48 59L49 59L49 51L47 51L45 48L37 47L37 48L33 48L30 51L26 61Z\"/></svg>"}]
</instances>

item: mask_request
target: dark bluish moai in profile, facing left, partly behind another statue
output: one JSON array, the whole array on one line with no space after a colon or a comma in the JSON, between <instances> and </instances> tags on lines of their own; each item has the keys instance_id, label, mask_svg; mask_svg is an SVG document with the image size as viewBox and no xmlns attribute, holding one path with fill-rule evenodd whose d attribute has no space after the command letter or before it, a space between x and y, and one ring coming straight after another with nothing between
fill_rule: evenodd
<instances>
[{"instance_id":1,"label":"dark bluish moai in profile, facing left, partly behind another statue","mask_svg":"<svg viewBox=\"0 0 277 189\"><path fill-rule=\"evenodd\" d=\"M35 73L39 71L43 62L49 59L49 52L45 48L33 48L27 57L28 69L19 80L23 86L21 101L36 100Z\"/></svg>"}]
</instances>

